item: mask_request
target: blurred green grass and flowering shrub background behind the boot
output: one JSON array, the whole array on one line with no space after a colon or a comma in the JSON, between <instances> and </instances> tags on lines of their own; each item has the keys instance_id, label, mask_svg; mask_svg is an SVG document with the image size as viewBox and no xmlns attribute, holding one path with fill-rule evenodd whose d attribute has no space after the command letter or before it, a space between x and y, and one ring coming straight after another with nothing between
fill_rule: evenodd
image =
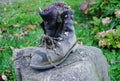
<instances>
[{"instance_id":1,"label":"blurred green grass and flowering shrub background behind the boot","mask_svg":"<svg viewBox=\"0 0 120 81\"><path fill-rule=\"evenodd\" d=\"M0 81L16 81L12 49L38 46L43 33L42 10L64 1L74 10L74 27L80 45L100 48L110 65L111 81L120 81L119 0L17 0L0 4Z\"/></svg>"}]
</instances>

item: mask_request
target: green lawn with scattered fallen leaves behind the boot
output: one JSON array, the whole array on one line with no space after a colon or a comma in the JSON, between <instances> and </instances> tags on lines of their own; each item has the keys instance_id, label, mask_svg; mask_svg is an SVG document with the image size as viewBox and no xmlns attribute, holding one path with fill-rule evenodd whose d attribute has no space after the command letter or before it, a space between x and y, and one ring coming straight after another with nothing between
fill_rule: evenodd
<instances>
[{"instance_id":1,"label":"green lawn with scattered fallen leaves behind the boot","mask_svg":"<svg viewBox=\"0 0 120 81\"><path fill-rule=\"evenodd\" d=\"M16 81L11 48L38 46L43 33L39 23L42 19L37 13L40 6L44 9L55 0L21 0L14 3L0 4L0 74L5 73L10 81ZM79 10L80 0L65 1L75 11L75 29L77 39L84 45L96 46L94 34L91 31L90 17ZM37 42L35 42L37 40ZM100 48L100 47L98 47ZM110 65L111 81L120 80L120 50L102 49Z\"/></svg>"}]
</instances>

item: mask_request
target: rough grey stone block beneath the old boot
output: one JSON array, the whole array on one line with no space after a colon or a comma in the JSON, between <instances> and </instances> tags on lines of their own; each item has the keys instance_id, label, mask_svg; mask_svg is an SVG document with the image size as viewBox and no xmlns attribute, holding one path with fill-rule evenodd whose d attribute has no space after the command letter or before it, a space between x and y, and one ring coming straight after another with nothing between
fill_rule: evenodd
<instances>
[{"instance_id":1,"label":"rough grey stone block beneath the old boot","mask_svg":"<svg viewBox=\"0 0 120 81\"><path fill-rule=\"evenodd\" d=\"M35 50L28 47L13 51L17 81L110 81L106 58L98 48L79 46L62 64L45 71L29 67Z\"/></svg>"}]
</instances>

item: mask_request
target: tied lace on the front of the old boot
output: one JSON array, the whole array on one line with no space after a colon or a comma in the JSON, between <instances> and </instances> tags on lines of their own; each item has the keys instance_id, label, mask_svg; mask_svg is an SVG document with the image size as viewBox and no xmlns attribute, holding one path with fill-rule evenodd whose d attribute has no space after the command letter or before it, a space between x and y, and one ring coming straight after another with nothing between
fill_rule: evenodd
<instances>
[{"instance_id":1,"label":"tied lace on the front of the old boot","mask_svg":"<svg viewBox=\"0 0 120 81\"><path fill-rule=\"evenodd\" d=\"M55 49L56 47L59 47L58 41L61 41L62 38L58 37L58 38L54 38L54 37L50 37L48 35L42 35L40 40L43 42L42 45L40 45L40 47L44 47L46 49L46 56L47 59L49 61L49 63L51 65L53 65L54 67L57 67L55 64L53 64L51 57L48 55L48 49L51 49L55 52L56 55L61 56L60 53L57 52L57 50Z\"/></svg>"}]
</instances>

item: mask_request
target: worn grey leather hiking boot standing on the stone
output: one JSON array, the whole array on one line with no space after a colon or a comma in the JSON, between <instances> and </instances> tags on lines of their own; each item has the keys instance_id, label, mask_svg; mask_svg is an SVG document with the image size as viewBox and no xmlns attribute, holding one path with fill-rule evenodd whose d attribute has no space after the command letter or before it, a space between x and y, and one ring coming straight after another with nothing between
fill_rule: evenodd
<instances>
[{"instance_id":1,"label":"worn grey leather hiking boot standing on the stone","mask_svg":"<svg viewBox=\"0 0 120 81\"><path fill-rule=\"evenodd\" d=\"M65 6L63 12L59 8ZM43 19L44 44L37 48L31 58L30 67L46 70L61 64L76 49L73 27L73 11L65 3L53 3L48 11L39 14Z\"/></svg>"}]
</instances>

